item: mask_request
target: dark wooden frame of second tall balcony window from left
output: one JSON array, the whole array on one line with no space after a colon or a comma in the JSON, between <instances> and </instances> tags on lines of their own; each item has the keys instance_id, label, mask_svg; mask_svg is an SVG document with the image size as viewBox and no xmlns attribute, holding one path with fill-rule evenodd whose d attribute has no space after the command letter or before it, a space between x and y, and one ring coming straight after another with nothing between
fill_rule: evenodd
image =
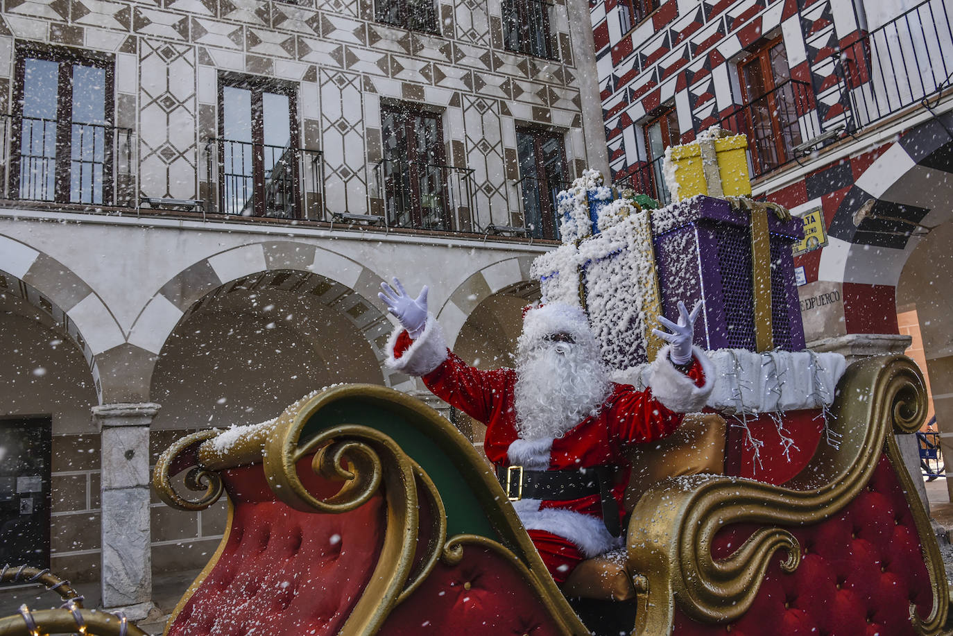
<instances>
[{"instance_id":1,"label":"dark wooden frame of second tall balcony window from left","mask_svg":"<svg viewBox=\"0 0 953 636\"><path fill-rule=\"evenodd\" d=\"M220 71L218 72L218 204L219 210L225 210L225 187L222 171L225 166L225 142L233 141L225 138L225 89L245 89L252 92L252 196L253 216L268 216L265 201L265 127L262 93L273 92L288 97L288 118L290 139L289 146L294 151L295 160L292 164L292 179L295 193L301 185L301 175L298 172L297 154L300 152L297 117L297 82L250 75L247 73ZM246 143L246 142L241 142ZM301 218L300 197L294 196L293 218Z\"/></svg>"}]
</instances>

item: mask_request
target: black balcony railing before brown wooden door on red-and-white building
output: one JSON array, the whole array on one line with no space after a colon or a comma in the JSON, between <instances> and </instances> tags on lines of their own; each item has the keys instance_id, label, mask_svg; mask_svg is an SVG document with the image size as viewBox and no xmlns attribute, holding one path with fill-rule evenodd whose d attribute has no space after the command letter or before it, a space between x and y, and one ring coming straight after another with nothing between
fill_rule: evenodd
<instances>
[{"instance_id":1,"label":"black balcony railing before brown wooden door on red-and-white building","mask_svg":"<svg viewBox=\"0 0 953 636\"><path fill-rule=\"evenodd\" d=\"M796 149L821 133L809 84L788 80L722 117L721 128L748 136L751 175L797 158Z\"/></svg>"}]
</instances>

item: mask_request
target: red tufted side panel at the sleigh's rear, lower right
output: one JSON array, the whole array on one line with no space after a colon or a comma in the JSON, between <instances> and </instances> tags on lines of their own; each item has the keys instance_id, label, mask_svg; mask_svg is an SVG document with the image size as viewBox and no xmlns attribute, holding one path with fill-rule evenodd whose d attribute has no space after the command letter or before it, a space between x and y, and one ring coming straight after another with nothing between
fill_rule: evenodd
<instances>
[{"instance_id":1,"label":"red tufted side panel at the sleigh's rear, lower right","mask_svg":"<svg viewBox=\"0 0 953 636\"><path fill-rule=\"evenodd\" d=\"M713 552L727 556L754 529L720 532ZM913 636L907 607L925 616L932 591L920 538L900 482L882 456L867 488L837 517L796 529L803 558L792 574L775 558L751 609L731 626L677 617L679 636Z\"/></svg>"}]
</instances>

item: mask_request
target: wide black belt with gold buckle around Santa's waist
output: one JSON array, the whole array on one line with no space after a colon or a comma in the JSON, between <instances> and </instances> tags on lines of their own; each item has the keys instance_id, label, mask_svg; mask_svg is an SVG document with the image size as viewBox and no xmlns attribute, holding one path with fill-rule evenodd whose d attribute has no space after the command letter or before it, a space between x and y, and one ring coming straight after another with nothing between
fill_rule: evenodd
<instances>
[{"instance_id":1,"label":"wide black belt with gold buckle around Santa's waist","mask_svg":"<svg viewBox=\"0 0 953 636\"><path fill-rule=\"evenodd\" d=\"M618 523L618 502L612 494L613 466L596 466L578 470L532 470L523 466L497 467L497 479L511 502L540 499L568 502L598 495L602 504L602 520L614 537Z\"/></svg>"}]
</instances>

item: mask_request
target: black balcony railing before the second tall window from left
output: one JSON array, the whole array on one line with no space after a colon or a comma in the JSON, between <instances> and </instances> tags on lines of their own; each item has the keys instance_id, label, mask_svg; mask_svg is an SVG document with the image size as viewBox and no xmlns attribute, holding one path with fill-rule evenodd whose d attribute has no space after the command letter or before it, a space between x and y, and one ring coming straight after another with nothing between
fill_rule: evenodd
<instances>
[{"instance_id":1,"label":"black balcony railing before the second tall window from left","mask_svg":"<svg viewBox=\"0 0 953 636\"><path fill-rule=\"evenodd\" d=\"M208 212L325 219L320 151L209 139L205 154Z\"/></svg>"}]
</instances>

